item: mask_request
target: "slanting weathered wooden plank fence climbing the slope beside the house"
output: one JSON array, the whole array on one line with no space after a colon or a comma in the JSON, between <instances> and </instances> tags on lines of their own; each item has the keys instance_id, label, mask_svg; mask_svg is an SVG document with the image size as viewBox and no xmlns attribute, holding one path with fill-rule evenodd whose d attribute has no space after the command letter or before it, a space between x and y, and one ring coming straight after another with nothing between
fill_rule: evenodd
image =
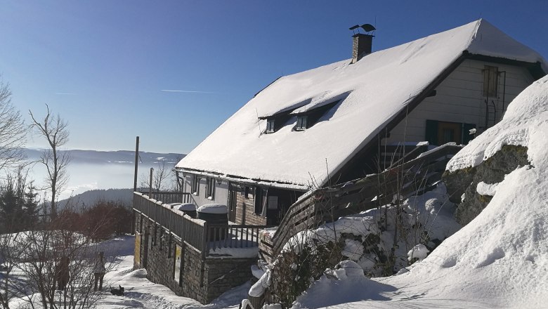
<instances>
[{"instance_id":1,"label":"slanting weathered wooden plank fence climbing the slope beside the house","mask_svg":"<svg viewBox=\"0 0 548 309\"><path fill-rule=\"evenodd\" d=\"M450 157L461 149L457 145L443 145L382 173L308 192L289 207L270 244L261 246L261 250L272 251L261 254L278 255L289 238L302 230L389 204L396 194L407 198L428 189L441 179Z\"/></svg>"}]
</instances>

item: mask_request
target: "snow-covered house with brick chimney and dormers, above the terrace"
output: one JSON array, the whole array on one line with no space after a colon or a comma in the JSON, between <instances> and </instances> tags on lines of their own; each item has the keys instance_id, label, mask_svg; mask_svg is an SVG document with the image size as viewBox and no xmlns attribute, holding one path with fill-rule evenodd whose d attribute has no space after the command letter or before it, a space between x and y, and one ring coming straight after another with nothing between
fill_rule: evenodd
<instances>
[{"instance_id":1,"label":"snow-covered house with brick chimney and dormers, above the terrace","mask_svg":"<svg viewBox=\"0 0 548 309\"><path fill-rule=\"evenodd\" d=\"M194 202L274 225L306 190L375 171L384 145L467 143L544 76L541 55L485 20L275 80L176 171ZM365 42L365 43L364 43Z\"/></svg>"}]
</instances>

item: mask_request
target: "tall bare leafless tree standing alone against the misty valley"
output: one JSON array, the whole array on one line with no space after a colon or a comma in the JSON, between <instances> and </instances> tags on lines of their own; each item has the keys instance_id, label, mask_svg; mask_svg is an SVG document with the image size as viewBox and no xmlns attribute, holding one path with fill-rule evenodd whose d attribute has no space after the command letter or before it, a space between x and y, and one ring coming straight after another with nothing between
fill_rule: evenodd
<instances>
[{"instance_id":1,"label":"tall bare leafless tree standing alone against the misty valley","mask_svg":"<svg viewBox=\"0 0 548 309\"><path fill-rule=\"evenodd\" d=\"M44 119L32 118L31 127L39 136L46 138L49 148L44 150L40 157L40 163L46 166L48 176L46 178L47 189L51 192L51 218L57 216L57 199L68 181L67 166L70 163L70 152L61 151L69 140L68 123L59 114L51 114L46 104L47 114Z\"/></svg>"}]
</instances>

